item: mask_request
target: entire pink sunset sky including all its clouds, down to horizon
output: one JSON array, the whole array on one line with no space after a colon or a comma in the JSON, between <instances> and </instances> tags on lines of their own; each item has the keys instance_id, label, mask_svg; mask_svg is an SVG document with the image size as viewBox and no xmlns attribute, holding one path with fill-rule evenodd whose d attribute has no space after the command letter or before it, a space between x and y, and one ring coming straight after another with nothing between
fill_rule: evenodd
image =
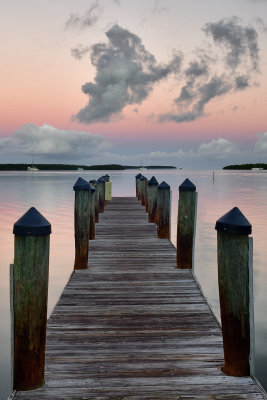
<instances>
[{"instance_id":1,"label":"entire pink sunset sky including all its clouds, down to horizon","mask_svg":"<svg viewBox=\"0 0 267 400\"><path fill-rule=\"evenodd\" d=\"M267 0L10 0L0 32L0 163L267 163Z\"/></svg>"}]
</instances>

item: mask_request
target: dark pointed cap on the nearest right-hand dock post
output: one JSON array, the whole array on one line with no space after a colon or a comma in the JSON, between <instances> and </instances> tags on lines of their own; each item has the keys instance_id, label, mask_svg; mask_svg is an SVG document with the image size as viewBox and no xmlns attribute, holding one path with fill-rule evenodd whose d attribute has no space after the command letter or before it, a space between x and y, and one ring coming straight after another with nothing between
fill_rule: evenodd
<instances>
[{"instance_id":1,"label":"dark pointed cap on the nearest right-hand dock post","mask_svg":"<svg viewBox=\"0 0 267 400\"><path fill-rule=\"evenodd\" d=\"M215 229L219 232L234 233L236 235L249 235L252 226L238 207L234 207L216 222Z\"/></svg>"}]
</instances>

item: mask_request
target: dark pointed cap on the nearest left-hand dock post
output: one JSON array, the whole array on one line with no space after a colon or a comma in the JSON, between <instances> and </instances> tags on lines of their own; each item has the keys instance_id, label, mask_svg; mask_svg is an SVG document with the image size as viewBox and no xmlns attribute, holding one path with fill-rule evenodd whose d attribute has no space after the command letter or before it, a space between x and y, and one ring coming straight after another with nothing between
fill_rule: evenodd
<instances>
[{"instance_id":1,"label":"dark pointed cap on the nearest left-hand dock post","mask_svg":"<svg viewBox=\"0 0 267 400\"><path fill-rule=\"evenodd\" d=\"M31 207L15 224L13 233L19 236L47 236L51 233L50 222Z\"/></svg>"}]
</instances>

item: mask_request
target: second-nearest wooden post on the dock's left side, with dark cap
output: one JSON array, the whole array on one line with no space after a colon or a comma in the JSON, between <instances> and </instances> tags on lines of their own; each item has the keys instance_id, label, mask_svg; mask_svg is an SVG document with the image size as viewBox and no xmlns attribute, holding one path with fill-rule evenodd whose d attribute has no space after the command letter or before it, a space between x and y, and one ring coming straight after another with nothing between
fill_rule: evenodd
<instances>
[{"instance_id":1,"label":"second-nearest wooden post on the dock's left side, with dark cap","mask_svg":"<svg viewBox=\"0 0 267 400\"><path fill-rule=\"evenodd\" d=\"M74 269L88 268L89 229L90 229L90 184L78 178L73 186L75 191L74 229L75 262Z\"/></svg>"}]
</instances>

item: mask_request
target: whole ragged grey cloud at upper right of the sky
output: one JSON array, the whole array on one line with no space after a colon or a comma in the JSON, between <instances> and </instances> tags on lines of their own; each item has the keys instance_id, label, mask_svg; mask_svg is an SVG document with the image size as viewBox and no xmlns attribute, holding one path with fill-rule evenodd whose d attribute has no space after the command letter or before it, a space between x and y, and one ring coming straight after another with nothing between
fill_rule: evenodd
<instances>
[{"instance_id":1,"label":"whole ragged grey cloud at upper right of the sky","mask_svg":"<svg viewBox=\"0 0 267 400\"><path fill-rule=\"evenodd\" d=\"M203 31L213 43L182 71L186 83L174 100L178 111L161 115L159 121L194 121L206 115L206 105L214 98L245 90L254 84L259 70L256 30L232 17L207 23ZM224 72L221 73L223 64Z\"/></svg>"}]
</instances>

